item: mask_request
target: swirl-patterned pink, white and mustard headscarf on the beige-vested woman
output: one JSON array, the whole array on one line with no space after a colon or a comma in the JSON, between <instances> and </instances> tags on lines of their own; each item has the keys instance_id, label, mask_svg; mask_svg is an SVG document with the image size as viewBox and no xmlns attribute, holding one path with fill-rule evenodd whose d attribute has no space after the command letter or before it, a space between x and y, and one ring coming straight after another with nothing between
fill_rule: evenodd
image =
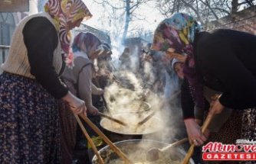
<instances>
[{"instance_id":1,"label":"swirl-patterned pink, white and mustard headscarf on the beige-vested woman","mask_svg":"<svg viewBox=\"0 0 256 164\"><path fill-rule=\"evenodd\" d=\"M54 18L55 27L59 31L61 49L64 53L70 54L71 34L68 24L80 19L87 20L92 17L92 14L81 0L48 0L44 10Z\"/></svg>"}]
</instances>

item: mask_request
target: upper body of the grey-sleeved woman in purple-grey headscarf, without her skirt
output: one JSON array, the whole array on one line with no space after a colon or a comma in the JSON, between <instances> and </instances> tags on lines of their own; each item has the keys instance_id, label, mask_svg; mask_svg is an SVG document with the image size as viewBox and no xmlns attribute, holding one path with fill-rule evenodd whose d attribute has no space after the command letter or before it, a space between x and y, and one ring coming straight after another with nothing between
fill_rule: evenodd
<instances>
[{"instance_id":1,"label":"upper body of the grey-sleeved woman in purple-grey headscarf, without her skirt","mask_svg":"<svg viewBox=\"0 0 256 164\"><path fill-rule=\"evenodd\" d=\"M100 40L91 33L77 34L73 42L74 68L66 68L62 75L65 82L71 82L79 98L85 101L87 112L97 114L97 108L92 105L91 94L102 95L103 89L97 88L92 82L94 59L103 52Z\"/></svg>"}]
</instances>

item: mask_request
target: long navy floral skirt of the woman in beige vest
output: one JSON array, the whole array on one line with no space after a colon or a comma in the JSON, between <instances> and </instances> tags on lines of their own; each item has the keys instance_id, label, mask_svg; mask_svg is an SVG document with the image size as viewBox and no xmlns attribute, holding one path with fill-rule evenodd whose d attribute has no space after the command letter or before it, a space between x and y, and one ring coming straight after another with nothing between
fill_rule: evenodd
<instances>
[{"instance_id":1,"label":"long navy floral skirt of the woman in beige vest","mask_svg":"<svg viewBox=\"0 0 256 164\"><path fill-rule=\"evenodd\" d=\"M0 76L0 163L60 163L57 101L38 82Z\"/></svg>"}]
</instances>

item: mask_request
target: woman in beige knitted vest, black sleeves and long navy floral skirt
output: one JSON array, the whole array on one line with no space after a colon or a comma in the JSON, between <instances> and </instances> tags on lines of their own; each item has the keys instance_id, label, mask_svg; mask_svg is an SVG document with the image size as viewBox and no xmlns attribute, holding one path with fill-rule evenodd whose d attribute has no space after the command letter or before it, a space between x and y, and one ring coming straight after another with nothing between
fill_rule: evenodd
<instances>
[{"instance_id":1,"label":"woman in beige knitted vest, black sleeves and long navy floral skirt","mask_svg":"<svg viewBox=\"0 0 256 164\"><path fill-rule=\"evenodd\" d=\"M91 14L80 0L49 0L46 12L23 19L13 34L0 76L0 162L60 163L57 100L74 114L84 101L61 84L61 49L68 53L68 31Z\"/></svg>"}]
</instances>

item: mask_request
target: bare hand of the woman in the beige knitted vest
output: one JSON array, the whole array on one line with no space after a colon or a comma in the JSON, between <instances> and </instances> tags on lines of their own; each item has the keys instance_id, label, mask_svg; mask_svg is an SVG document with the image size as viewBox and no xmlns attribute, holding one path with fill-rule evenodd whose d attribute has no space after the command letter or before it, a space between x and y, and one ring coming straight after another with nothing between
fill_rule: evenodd
<instances>
[{"instance_id":1,"label":"bare hand of the woman in the beige knitted vest","mask_svg":"<svg viewBox=\"0 0 256 164\"><path fill-rule=\"evenodd\" d=\"M65 95L62 99L67 101L68 105L71 107L71 111L73 111L74 114L83 113L85 116L87 116L87 108L83 100L77 98L71 92L67 92L67 95Z\"/></svg>"}]
</instances>

